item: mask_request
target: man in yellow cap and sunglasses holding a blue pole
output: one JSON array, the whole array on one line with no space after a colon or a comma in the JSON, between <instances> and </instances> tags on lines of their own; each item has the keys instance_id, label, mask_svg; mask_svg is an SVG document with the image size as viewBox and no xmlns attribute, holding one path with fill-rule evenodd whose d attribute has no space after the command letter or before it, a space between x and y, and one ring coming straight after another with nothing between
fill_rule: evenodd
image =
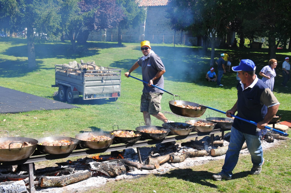
<instances>
[{"instance_id":1,"label":"man in yellow cap and sunglasses holding a blue pole","mask_svg":"<svg viewBox=\"0 0 291 193\"><path fill-rule=\"evenodd\" d=\"M164 91L152 86L156 85L164 89L163 74L166 72L165 66L161 58L151 50L149 41L141 42L141 51L143 56L124 75L129 77L128 75L132 71L139 66L141 67L143 81L148 83L143 83L143 94L141 95L141 112L143 112L145 124L151 125L150 115L166 123L168 122L167 118L160 112L161 99Z\"/></svg>"}]
</instances>

